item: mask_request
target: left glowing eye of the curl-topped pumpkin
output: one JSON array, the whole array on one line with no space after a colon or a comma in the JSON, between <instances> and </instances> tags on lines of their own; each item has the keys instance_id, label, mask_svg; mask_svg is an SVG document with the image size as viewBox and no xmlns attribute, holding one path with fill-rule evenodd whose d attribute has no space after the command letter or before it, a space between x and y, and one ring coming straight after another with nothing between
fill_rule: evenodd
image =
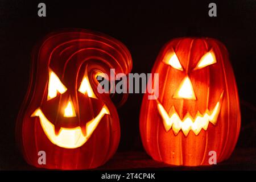
<instances>
[{"instance_id":1,"label":"left glowing eye of the curl-topped pumpkin","mask_svg":"<svg viewBox=\"0 0 256 182\"><path fill-rule=\"evenodd\" d=\"M48 96L47 100L51 100L57 96L57 92L63 94L67 88L63 85L57 75L49 69Z\"/></svg>"}]
</instances>

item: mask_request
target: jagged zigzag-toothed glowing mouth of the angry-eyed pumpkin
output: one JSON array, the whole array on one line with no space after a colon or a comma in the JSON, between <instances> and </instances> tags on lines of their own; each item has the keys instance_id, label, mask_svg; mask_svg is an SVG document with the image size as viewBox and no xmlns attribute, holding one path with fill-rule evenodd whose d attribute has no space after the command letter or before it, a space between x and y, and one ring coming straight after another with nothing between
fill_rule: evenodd
<instances>
[{"instance_id":1,"label":"jagged zigzag-toothed glowing mouth of the angry-eyed pumpkin","mask_svg":"<svg viewBox=\"0 0 256 182\"><path fill-rule=\"evenodd\" d=\"M212 112L210 112L209 109L207 109L204 114L201 114L199 111L197 111L195 118L192 118L191 114L187 113L183 119L180 119L179 114L177 114L174 106L171 107L169 115L164 109L163 105L157 101L158 111L163 119L166 132L172 129L174 134L177 135L179 131L182 130L183 134L187 137L190 130L192 130L196 135L200 133L201 129L206 131L209 122L213 125L216 125L218 114L220 113L221 109L222 96L223 92L221 93L220 99L214 106Z\"/></svg>"}]
</instances>

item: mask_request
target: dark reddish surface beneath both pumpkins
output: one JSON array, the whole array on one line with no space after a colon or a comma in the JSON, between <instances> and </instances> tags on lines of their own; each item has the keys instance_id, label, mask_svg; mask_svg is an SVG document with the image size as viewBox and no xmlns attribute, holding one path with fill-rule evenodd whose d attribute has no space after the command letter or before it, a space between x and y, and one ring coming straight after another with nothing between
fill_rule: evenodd
<instances>
[{"instance_id":1,"label":"dark reddish surface beneath both pumpkins","mask_svg":"<svg viewBox=\"0 0 256 182\"><path fill-rule=\"evenodd\" d=\"M1 150L3 152L5 150ZM8 152L8 151L5 151ZM11 156L10 152L8 152ZM1 155L3 156L3 155ZM19 155L1 159L1 170L42 170L28 165ZM93 170L255 170L256 148L236 148L230 158L213 166L184 167L170 166L152 160L145 152L117 152L106 164ZM43 169L44 170L44 169Z\"/></svg>"}]
</instances>

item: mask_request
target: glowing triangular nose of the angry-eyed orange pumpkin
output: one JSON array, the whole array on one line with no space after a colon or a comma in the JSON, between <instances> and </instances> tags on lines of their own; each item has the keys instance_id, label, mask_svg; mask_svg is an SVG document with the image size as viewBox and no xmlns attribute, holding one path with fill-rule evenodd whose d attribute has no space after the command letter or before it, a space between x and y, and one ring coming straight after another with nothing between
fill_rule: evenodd
<instances>
[{"instance_id":1,"label":"glowing triangular nose of the angry-eyed orange pumpkin","mask_svg":"<svg viewBox=\"0 0 256 182\"><path fill-rule=\"evenodd\" d=\"M189 77L185 77L179 88L174 93L173 98L183 98L188 100L196 100L196 95Z\"/></svg>"}]
</instances>

